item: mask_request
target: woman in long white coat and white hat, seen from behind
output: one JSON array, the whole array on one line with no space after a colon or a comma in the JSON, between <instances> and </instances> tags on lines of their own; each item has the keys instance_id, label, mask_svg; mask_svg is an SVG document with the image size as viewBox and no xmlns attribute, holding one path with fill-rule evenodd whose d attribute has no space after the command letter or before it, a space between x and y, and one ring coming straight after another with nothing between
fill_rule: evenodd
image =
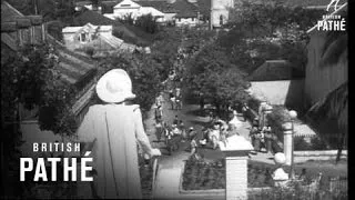
<instances>
[{"instance_id":1,"label":"woman in long white coat and white hat, seen from behind","mask_svg":"<svg viewBox=\"0 0 355 200\"><path fill-rule=\"evenodd\" d=\"M78 136L93 144L94 191L99 198L141 199L141 179L138 166L138 146L149 156L160 156L145 134L138 104L126 101L135 98L132 82L122 69L106 72L97 84L98 97L104 104L90 107Z\"/></svg>"}]
</instances>

